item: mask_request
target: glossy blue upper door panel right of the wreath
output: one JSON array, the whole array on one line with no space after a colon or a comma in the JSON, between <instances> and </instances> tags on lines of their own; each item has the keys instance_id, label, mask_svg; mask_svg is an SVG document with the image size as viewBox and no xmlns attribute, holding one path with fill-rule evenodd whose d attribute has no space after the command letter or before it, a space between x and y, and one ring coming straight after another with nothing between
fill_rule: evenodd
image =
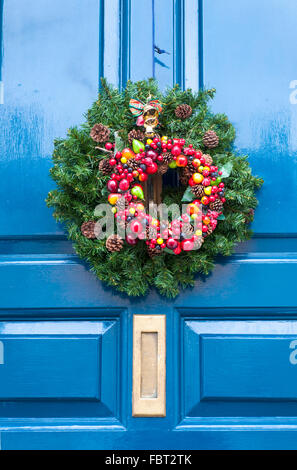
<instances>
[{"instance_id":1,"label":"glossy blue upper door panel right of the wreath","mask_svg":"<svg viewBox=\"0 0 297 470\"><path fill-rule=\"evenodd\" d=\"M257 233L297 232L295 14L290 0L204 2L204 82L218 90L213 109L229 116L237 149L265 178ZM276 195L281 181L286 190Z\"/></svg>"}]
</instances>

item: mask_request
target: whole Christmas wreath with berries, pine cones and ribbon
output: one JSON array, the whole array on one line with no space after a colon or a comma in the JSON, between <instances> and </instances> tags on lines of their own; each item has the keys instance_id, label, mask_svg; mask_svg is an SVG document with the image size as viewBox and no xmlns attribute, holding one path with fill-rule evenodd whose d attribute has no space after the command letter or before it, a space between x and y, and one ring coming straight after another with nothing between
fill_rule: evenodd
<instances>
[{"instance_id":1,"label":"whole Christmas wreath with berries, pine cones and ribbon","mask_svg":"<svg viewBox=\"0 0 297 470\"><path fill-rule=\"evenodd\" d=\"M155 286L175 297L252 234L263 181L232 151L227 117L209 110L214 93L178 86L162 93L154 80L119 91L102 79L86 122L55 141L57 189L47 204L98 278L129 296ZM168 172L178 172L178 184L163 182L158 216L149 185L157 175L160 190ZM163 217L164 207L181 212Z\"/></svg>"}]
</instances>

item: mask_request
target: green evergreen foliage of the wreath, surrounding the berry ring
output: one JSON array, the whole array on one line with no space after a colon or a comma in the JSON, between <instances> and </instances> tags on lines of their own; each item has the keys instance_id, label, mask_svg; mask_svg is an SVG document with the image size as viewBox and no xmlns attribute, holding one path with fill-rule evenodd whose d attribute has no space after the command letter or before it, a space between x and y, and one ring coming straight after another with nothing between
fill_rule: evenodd
<instances>
[{"instance_id":1,"label":"green evergreen foliage of the wreath, surrounding the berry ring","mask_svg":"<svg viewBox=\"0 0 297 470\"><path fill-rule=\"evenodd\" d=\"M174 298L181 288L194 286L196 274L209 274L216 256L231 255L237 242L251 237L248 222L257 206L255 191L263 181L252 175L246 156L233 152L235 131L232 124L224 114L213 114L208 107L214 94L214 89L194 93L190 89L183 91L179 86L162 93L152 79L137 83L129 81L126 88L119 91L102 79L98 100L87 111L86 122L79 128L69 129L65 139L54 143L54 166L50 174L57 188L49 193L47 204L54 208L56 220L65 224L78 256L88 261L99 279L129 296L143 296L154 286L161 295ZM109 179L98 169L98 163L106 158L106 153L95 149L90 131L96 123L101 123L110 129L110 141L120 137L129 147L128 133L135 128L135 118L129 112L130 99L145 101L149 95L160 100L163 106L157 129L159 134L183 137L194 148L205 149L203 137L212 129L219 143L216 148L207 149L207 153L215 165L222 167L229 163L232 166L226 181L224 220L219 221L214 233L205 239L199 250L183 252L179 256L163 253L150 258L143 241L136 246L125 243L121 251L110 253L105 240L89 239L81 232L84 222L94 220L94 208L106 203ZM181 119L175 113L182 104L192 108L187 119ZM165 188L163 202L180 204L183 193L183 188L178 191Z\"/></svg>"}]
</instances>

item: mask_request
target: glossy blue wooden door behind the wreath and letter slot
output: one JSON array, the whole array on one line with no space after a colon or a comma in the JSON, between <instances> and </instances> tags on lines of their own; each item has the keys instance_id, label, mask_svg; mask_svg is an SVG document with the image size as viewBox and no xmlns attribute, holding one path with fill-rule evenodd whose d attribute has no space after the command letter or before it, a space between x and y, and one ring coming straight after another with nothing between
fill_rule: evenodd
<instances>
[{"instance_id":1,"label":"glossy blue wooden door behind the wreath and letter slot","mask_svg":"<svg viewBox=\"0 0 297 470\"><path fill-rule=\"evenodd\" d=\"M296 449L296 2L0 5L1 448ZM44 203L102 75L216 87L265 179L254 239L175 301L107 289ZM167 317L166 417L132 416L142 314Z\"/></svg>"}]
</instances>

